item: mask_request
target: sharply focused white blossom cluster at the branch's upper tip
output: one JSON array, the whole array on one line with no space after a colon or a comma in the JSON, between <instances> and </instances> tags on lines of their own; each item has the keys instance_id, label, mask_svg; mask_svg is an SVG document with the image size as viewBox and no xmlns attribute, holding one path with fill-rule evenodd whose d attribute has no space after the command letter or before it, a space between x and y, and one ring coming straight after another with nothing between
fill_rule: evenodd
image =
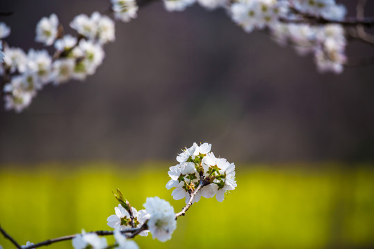
<instances>
[{"instance_id":1,"label":"sharply focused white blossom cluster at the branch's upper tip","mask_svg":"<svg viewBox=\"0 0 374 249\"><path fill-rule=\"evenodd\" d=\"M176 200L185 198L188 203L190 195L202 185L193 202L199 201L201 196L211 198L215 195L217 201L223 201L224 194L236 187L235 165L225 158L216 158L211 145L206 142L202 145L194 143L184 149L177 161L178 165L170 167L168 174L171 179L166 184L168 190L176 187L172 191Z\"/></svg>"}]
</instances>

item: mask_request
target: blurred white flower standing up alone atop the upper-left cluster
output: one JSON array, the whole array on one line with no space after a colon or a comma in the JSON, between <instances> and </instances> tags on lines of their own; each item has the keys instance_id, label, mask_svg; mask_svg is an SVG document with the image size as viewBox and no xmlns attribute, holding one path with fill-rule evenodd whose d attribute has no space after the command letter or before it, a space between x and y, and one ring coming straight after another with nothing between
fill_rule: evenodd
<instances>
[{"instance_id":1,"label":"blurred white flower standing up alone atop the upper-left cluster","mask_svg":"<svg viewBox=\"0 0 374 249\"><path fill-rule=\"evenodd\" d=\"M58 31L57 15L52 14L48 17L43 17L36 27L35 42L42 42L45 45L52 45L55 42Z\"/></svg>"}]
</instances>

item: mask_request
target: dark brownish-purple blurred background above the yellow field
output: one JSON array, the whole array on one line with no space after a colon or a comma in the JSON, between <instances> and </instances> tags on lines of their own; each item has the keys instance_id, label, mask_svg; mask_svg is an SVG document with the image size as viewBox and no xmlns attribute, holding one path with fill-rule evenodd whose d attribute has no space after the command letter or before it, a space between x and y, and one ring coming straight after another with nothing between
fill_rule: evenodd
<instances>
[{"instance_id":1,"label":"dark brownish-purple blurred background above the yellow field","mask_svg":"<svg viewBox=\"0 0 374 249\"><path fill-rule=\"evenodd\" d=\"M355 15L356 1L342 1ZM66 33L80 13L109 0L1 1L11 46L34 42L39 19L56 13ZM374 3L366 6L374 14ZM350 42L348 56L374 54ZM242 162L374 160L374 66L319 74L264 32L236 26L224 10L195 5L141 8L116 22L116 42L84 82L46 86L21 114L0 111L0 163L172 160L179 148L211 142ZM3 104L1 104L3 105Z\"/></svg>"}]
</instances>

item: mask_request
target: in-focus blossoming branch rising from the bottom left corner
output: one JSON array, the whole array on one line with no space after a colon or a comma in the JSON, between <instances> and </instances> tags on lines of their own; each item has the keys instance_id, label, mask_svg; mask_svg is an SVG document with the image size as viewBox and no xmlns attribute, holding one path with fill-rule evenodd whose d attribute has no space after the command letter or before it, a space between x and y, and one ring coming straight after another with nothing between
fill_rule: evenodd
<instances>
[{"instance_id":1,"label":"in-focus blossoming branch rising from the bottom left corner","mask_svg":"<svg viewBox=\"0 0 374 249\"><path fill-rule=\"evenodd\" d=\"M118 207L114 208L115 214L107 218L107 225L114 229L112 231L82 230L80 234L48 239L35 244L27 241L24 246L19 246L19 243L1 227L0 232L17 249L38 248L66 240L71 240L75 249L136 249L139 246L131 239L136 235L148 236L149 233L161 242L168 241L177 228L178 217L184 216L201 196L205 198L216 196L217 201L222 202L225 194L236 187L235 165L225 158L216 158L211 152L211 147L212 145L206 142L202 145L194 143L192 147L184 149L177 156L178 164L170 167L168 172L170 181L166 184L166 188L170 190L175 187L172 191L173 199L185 198L186 205L181 212L175 213L168 201L157 196L148 197L143 204L145 209L138 211L124 198L121 191L117 190L114 196L119 203ZM116 243L108 245L104 237L107 235L114 235Z\"/></svg>"}]
</instances>

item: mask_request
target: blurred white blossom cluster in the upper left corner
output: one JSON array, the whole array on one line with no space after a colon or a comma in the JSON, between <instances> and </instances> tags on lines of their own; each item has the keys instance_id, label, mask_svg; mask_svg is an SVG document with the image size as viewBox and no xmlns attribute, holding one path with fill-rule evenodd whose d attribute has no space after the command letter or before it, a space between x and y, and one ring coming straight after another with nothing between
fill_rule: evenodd
<instances>
[{"instance_id":1,"label":"blurred white blossom cluster in the upper left corner","mask_svg":"<svg viewBox=\"0 0 374 249\"><path fill-rule=\"evenodd\" d=\"M45 49L30 49L26 54L21 48L4 46L0 74L9 78L3 88L6 109L20 112L46 84L84 80L96 72L105 56L103 45L115 39L114 21L94 12L91 17L78 15L70 26L79 37L63 35L55 14L43 17L37 24L35 41L53 45L53 57ZM9 33L9 28L0 24L0 37Z\"/></svg>"}]
</instances>

